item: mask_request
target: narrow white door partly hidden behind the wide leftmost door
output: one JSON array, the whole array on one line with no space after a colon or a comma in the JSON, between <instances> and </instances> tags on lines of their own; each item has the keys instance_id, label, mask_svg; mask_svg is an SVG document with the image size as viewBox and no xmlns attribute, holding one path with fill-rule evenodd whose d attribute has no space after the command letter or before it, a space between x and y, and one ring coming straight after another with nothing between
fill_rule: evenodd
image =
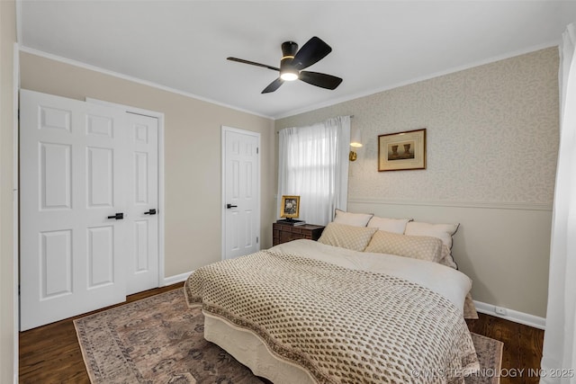
<instances>
[{"instance_id":1,"label":"narrow white door partly hidden behind the wide leftmost door","mask_svg":"<svg viewBox=\"0 0 576 384\"><path fill-rule=\"evenodd\" d=\"M134 113L127 115L130 149L127 294L130 295L159 285L158 120Z\"/></svg>"}]
</instances>

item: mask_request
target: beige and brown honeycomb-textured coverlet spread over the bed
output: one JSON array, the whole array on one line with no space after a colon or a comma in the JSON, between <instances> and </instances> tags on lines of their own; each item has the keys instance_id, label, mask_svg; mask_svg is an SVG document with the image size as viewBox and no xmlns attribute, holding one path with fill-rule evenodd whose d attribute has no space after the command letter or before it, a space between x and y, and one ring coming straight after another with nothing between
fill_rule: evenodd
<instances>
[{"instance_id":1,"label":"beige and brown honeycomb-textured coverlet spread over the bed","mask_svg":"<svg viewBox=\"0 0 576 384\"><path fill-rule=\"evenodd\" d=\"M184 293L319 383L452 383L478 370L462 308L398 276L267 250L196 270Z\"/></svg>"}]
</instances>

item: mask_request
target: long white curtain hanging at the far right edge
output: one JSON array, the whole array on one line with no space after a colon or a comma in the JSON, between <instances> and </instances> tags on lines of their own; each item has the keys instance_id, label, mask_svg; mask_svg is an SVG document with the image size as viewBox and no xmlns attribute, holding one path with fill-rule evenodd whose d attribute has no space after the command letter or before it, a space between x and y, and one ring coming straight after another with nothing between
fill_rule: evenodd
<instances>
[{"instance_id":1,"label":"long white curtain hanging at the far right edge","mask_svg":"<svg viewBox=\"0 0 576 384\"><path fill-rule=\"evenodd\" d=\"M564 31L560 46L560 149L554 191L542 383L576 383L575 42L576 23L572 23Z\"/></svg>"}]
</instances>

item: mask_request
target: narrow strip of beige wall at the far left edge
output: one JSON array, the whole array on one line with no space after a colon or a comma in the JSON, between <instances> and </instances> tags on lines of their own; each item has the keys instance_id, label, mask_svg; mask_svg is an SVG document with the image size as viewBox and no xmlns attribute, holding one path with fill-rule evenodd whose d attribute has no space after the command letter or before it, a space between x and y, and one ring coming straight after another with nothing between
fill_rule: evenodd
<instances>
[{"instance_id":1,"label":"narrow strip of beige wall at the far left edge","mask_svg":"<svg viewBox=\"0 0 576 384\"><path fill-rule=\"evenodd\" d=\"M0 1L0 382L14 382L14 1Z\"/></svg>"}]
</instances>

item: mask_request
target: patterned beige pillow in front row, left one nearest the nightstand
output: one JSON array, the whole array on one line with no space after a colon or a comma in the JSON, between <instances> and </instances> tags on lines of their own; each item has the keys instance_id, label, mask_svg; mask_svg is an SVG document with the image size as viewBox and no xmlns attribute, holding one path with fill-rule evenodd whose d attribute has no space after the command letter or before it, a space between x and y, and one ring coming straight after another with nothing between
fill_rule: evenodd
<instances>
[{"instance_id":1,"label":"patterned beige pillow in front row, left one nearest the nightstand","mask_svg":"<svg viewBox=\"0 0 576 384\"><path fill-rule=\"evenodd\" d=\"M376 230L376 228L347 226L331 222L324 228L318 242L362 252Z\"/></svg>"}]
</instances>

